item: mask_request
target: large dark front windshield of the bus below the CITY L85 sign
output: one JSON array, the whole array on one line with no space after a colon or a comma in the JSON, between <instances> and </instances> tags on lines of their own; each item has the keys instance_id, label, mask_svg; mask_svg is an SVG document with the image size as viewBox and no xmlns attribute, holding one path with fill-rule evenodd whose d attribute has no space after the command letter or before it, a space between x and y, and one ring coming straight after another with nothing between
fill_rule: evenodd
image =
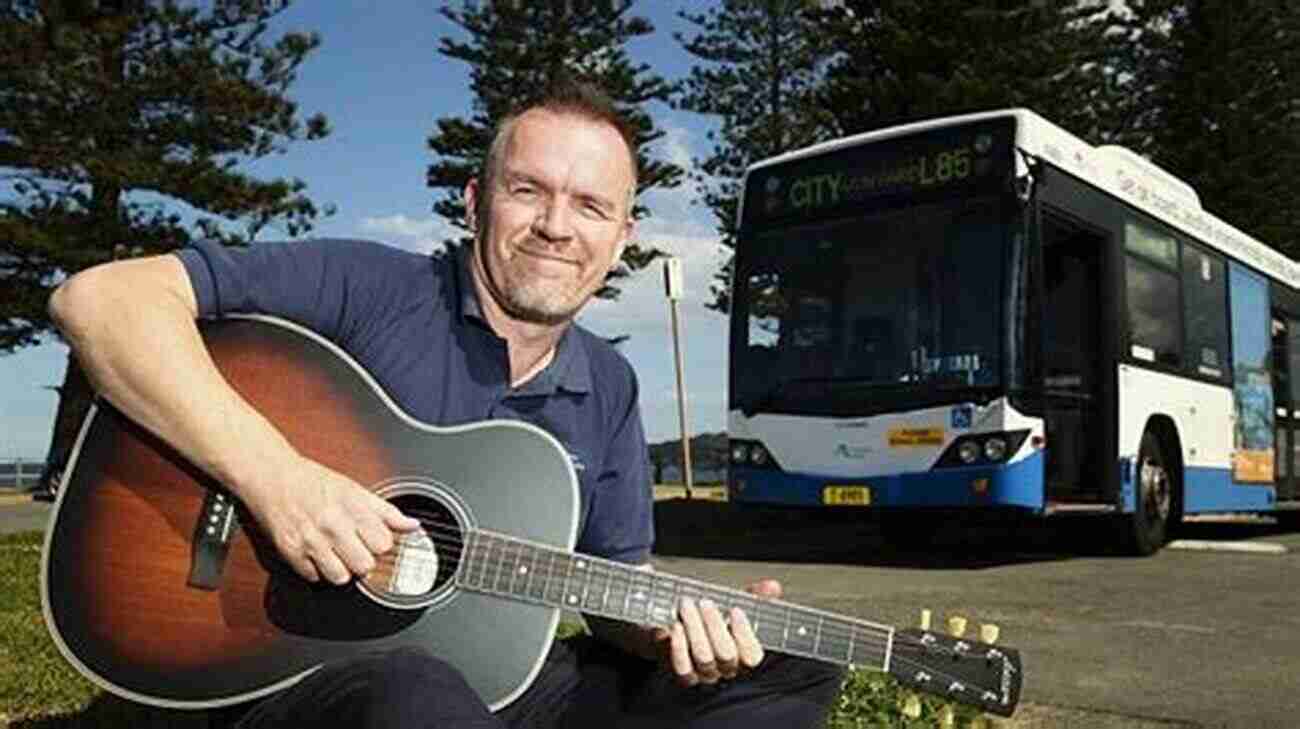
<instances>
[{"instance_id":1,"label":"large dark front windshield of the bus below the CITY L85 sign","mask_svg":"<svg viewBox=\"0 0 1300 729\"><path fill-rule=\"evenodd\" d=\"M1000 196L742 235L732 408L866 415L1001 386Z\"/></svg>"}]
</instances>

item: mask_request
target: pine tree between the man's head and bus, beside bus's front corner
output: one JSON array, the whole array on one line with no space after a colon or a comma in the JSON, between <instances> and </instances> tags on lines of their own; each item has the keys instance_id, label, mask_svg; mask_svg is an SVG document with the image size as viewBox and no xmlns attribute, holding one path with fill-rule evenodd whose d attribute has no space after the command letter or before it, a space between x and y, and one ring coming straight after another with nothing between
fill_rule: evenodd
<instances>
[{"instance_id":1,"label":"pine tree between the man's head and bus, beside bus's front corner","mask_svg":"<svg viewBox=\"0 0 1300 729\"><path fill-rule=\"evenodd\" d=\"M807 0L724 0L706 13L679 13L698 30L677 35L698 58L677 107L718 117L712 149L696 160L699 200L714 214L723 246L736 246L736 214L745 169L758 160L829 135L831 114L816 103L831 48ZM708 308L731 308L731 261L714 275Z\"/></svg>"}]
</instances>

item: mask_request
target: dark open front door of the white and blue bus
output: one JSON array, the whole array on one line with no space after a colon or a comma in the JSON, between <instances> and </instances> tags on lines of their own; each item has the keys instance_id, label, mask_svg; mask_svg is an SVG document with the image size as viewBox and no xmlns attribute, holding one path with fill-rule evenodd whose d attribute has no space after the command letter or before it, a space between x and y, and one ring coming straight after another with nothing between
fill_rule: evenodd
<instances>
[{"instance_id":1,"label":"dark open front door of the white and blue bus","mask_svg":"<svg viewBox=\"0 0 1300 729\"><path fill-rule=\"evenodd\" d=\"M1102 500L1101 270L1106 237L1043 216L1043 416L1050 502Z\"/></svg>"}]
</instances>

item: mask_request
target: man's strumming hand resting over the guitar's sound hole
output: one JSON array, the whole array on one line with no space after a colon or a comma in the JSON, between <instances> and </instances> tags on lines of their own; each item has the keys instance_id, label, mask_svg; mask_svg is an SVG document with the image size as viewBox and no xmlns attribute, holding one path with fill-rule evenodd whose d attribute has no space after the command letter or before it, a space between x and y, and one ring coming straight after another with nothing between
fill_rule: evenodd
<instances>
[{"instance_id":1,"label":"man's strumming hand resting over the guitar's sound hole","mask_svg":"<svg viewBox=\"0 0 1300 729\"><path fill-rule=\"evenodd\" d=\"M311 582L324 577L343 585L364 576L393 548L394 531L420 528L387 500L306 457L240 496L280 555Z\"/></svg>"}]
</instances>

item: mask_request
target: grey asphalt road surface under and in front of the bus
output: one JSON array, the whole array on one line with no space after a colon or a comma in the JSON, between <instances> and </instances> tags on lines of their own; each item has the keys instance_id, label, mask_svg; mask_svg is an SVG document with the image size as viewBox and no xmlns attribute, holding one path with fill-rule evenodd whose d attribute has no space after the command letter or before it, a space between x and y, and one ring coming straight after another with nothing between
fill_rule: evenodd
<instances>
[{"instance_id":1,"label":"grey asphalt road surface under and in front of the bus","mask_svg":"<svg viewBox=\"0 0 1300 729\"><path fill-rule=\"evenodd\" d=\"M48 504L13 502L0 498L0 531L44 526ZM936 624L998 624L1024 661L1015 729L1300 726L1300 531L1195 524L1184 537L1210 546L1288 551L1134 559L1088 520L950 522L937 544L900 551L845 513L670 500L656 518L662 570L736 586L774 577L793 602L894 625L920 608Z\"/></svg>"}]
</instances>

